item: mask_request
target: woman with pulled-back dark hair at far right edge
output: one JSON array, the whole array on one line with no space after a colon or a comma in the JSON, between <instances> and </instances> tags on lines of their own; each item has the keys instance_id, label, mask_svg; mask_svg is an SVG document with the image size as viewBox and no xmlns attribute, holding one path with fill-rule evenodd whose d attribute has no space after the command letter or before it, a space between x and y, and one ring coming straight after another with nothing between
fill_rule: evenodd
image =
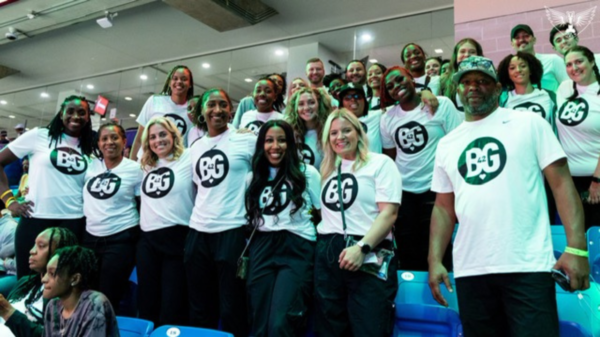
<instances>
[{"instance_id":1,"label":"woman with pulled-back dark hair at far right edge","mask_svg":"<svg viewBox=\"0 0 600 337\"><path fill-rule=\"evenodd\" d=\"M600 225L600 72L584 46L569 49L565 64L570 79L556 92L556 128L583 200L587 230Z\"/></svg>"}]
</instances>

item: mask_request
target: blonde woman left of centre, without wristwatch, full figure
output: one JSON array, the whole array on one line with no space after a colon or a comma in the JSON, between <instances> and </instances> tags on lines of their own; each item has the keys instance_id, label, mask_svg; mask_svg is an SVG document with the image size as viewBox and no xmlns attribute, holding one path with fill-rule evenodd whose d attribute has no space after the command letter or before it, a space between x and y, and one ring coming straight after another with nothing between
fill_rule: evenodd
<instances>
[{"instance_id":1,"label":"blonde woman left of centre, without wristwatch, full figure","mask_svg":"<svg viewBox=\"0 0 600 337\"><path fill-rule=\"evenodd\" d=\"M194 207L190 154L175 124L165 117L148 122L142 146L139 314L156 326L185 325L188 299L183 247Z\"/></svg>"}]
</instances>

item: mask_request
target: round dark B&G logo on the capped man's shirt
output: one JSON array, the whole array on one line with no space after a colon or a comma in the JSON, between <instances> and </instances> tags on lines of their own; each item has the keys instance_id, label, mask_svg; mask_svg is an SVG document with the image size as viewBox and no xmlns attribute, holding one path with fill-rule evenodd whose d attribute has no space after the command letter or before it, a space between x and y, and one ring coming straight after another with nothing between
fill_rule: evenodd
<instances>
[{"instance_id":1,"label":"round dark B&G logo on the capped man's shirt","mask_svg":"<svg viewBox=\"0 0 600 337\"><path fill-rule=\"evenodd\" d=\"M504 145L495 138L477 138L458 159L458 172L471 185L483 185L496 178L506 165Z\"/></svg>"}]
</instances>

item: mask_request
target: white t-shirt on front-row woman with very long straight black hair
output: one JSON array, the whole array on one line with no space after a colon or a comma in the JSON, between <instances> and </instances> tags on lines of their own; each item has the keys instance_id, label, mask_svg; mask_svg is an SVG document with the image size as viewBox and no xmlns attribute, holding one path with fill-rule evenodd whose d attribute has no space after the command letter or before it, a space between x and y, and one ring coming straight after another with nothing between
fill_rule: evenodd
<instances>
[{"instance_id":1,"label":"white t-shirt on front-row woman with very long straight black hair","mask_svg":"<svg viewBox=\"0 0 600 337\"><path fill-rule=\"evenodd\" d=\"M287 230L306 240L316 241L317 230L313 225L309 211L313 208L321 209L319 195L321 193L321 175L316 168L311 165L303 165L302 170L306 176L306 189L302 193L304 206L294 215L290 215L295 208L291 196L292 185L288 182L275 180L277 169L270 168L269 183L265 186L260 195L259 207L263 209L264 222L258 227L262 232L276 232ZM248 174L250 182L252 173ZM279 191L279 195L271 195L273 188ZM266 205L265 205L266 204Z\"/></svg>"}]
</instances>

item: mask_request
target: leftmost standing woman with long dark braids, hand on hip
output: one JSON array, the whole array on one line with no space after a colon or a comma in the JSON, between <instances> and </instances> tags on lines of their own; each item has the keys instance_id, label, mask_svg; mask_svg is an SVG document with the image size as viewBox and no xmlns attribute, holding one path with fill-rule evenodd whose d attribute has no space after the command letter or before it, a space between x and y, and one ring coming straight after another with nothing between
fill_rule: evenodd
<instances>
[{"instance_id":1,"label":"leftmost standing woman with long dark braids, hand on hip","mask_svg":"<svg viewBox=\"0 0 600 337\"><path fill-rule=\"evenodd\" d=\"M29 273L31 242L50 227L69 228L78 238L85 230L83 185L93 133L90 106L84 97L65 98L45 128L34 128L0 152L0 199L21 220L15 233L17 277ZM29 156L29 193L16 200L2 168Z\"/></svg>"}]
</instances>

